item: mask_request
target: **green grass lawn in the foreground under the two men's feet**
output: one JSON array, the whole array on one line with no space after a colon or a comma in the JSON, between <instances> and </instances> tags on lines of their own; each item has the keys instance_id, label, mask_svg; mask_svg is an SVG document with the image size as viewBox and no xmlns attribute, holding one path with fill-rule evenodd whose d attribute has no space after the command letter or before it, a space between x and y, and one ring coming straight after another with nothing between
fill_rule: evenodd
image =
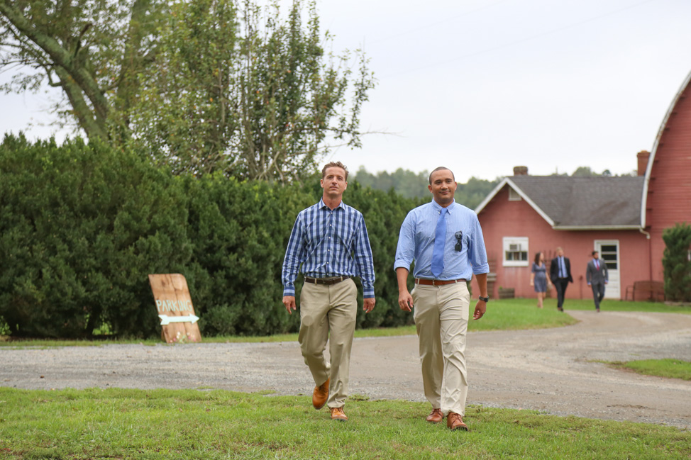
<instances>
[{"instance_id":1,"label":"green grass lawn in the foreground under the two men's feet","mask_svg":"<svg viewBox=\"0 0 691 460\"><path fill-rule=\"evenodd\" d=\"M332 422L308 396L0 388L0 459L688 459L691 432L470 406L470 432L426 403L353 398Z\"/></svg>"}]
</instances>

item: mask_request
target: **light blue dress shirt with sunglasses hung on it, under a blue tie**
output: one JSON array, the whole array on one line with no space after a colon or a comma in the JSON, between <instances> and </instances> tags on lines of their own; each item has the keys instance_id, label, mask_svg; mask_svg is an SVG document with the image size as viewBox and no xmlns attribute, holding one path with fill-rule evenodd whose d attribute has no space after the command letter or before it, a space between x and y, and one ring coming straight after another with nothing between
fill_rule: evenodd
<instances>
[{"instance_id":1,"label":"light blue dress shirt with sunglasses hung on it, under a blue tie","mask_svg":"<svg viewBox=\"0 0 691 460\"><path fill-rule=\"evenodd\" d=\"M470 281L472 274L489 273L485 239L477 215L455 201L447 209L448 213L444 215L444 269L437 279L465 278ZM410 270L410 264L415 260L415 278L435 279L432 274L432 251L439 213L441 206L436 201L418 206L408 213L398 237L394 270L399 267Z\"/></svg>"}]
</instances>

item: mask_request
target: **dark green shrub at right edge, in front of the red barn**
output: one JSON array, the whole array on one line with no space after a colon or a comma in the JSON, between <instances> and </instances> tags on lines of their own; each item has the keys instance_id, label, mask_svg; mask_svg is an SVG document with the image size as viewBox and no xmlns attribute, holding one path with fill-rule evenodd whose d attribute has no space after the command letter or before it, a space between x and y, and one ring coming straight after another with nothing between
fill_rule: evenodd
<instances>
[{"instance_id":1,"label":"dark green shrub at right edge, in front of the red barn","mask_svg":"<svg viewBox=\"0 0 691 460\"><path fill-rule=\"evenodd\" d=\"M665 296L669 301L691 302L691 225L678 223L662 233Z\"/></svg>"}]
</instances>

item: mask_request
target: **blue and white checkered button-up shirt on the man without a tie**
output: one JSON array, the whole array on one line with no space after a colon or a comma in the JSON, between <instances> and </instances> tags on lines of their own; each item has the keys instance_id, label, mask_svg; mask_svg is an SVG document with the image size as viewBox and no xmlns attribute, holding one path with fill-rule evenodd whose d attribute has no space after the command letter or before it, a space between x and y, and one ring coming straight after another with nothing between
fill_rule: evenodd
<instances>
[{"instance_id":1,"label":"blue and white checkered button-up shirt on the man without a tie","mask_svg":"<svg viewBox=\"0 0 691 460\"><path fill-rule=\"evenodd\" d=\"M283 295L295 295L295 279L360 276L365 298L375 296L375 267L365 218L341 201L331 211L324 200L297 215L283 260Z\"/></svg>"}]
</instances>

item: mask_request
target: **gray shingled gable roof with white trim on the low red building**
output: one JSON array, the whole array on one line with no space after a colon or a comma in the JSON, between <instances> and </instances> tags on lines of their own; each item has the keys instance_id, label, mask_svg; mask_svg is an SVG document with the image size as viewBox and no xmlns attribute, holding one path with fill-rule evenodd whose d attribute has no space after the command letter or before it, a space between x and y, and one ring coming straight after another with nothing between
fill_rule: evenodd
<instances>
[{"instance_id":1,"label":"gray shingled gable roof with white trim on the low red building","mask_svg":"<svg viewBox=\"0 0 691 460\"><path fill-rule=\"evenodd\" d=\"M643 176L510 176L475 213L509 186L555 230L640 228L643 181Z\"/></svg>"}]
</instances>

